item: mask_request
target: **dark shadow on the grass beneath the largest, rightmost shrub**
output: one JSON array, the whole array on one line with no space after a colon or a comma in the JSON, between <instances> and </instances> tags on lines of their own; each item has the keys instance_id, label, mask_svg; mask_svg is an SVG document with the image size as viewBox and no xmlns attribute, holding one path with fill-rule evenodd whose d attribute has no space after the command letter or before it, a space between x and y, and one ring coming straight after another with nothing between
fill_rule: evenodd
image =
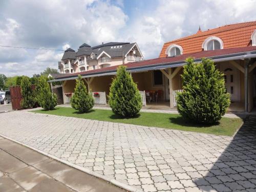
<instances>
[{"instance_id":1,"label":"dark shadow on the grass beneath the largest, rightmost shrub","mask_svg":"<svg viewBox=\"0 0 256 192\"><path fill-rule=\"evenodd\" d=\"M195 122L190 122L183 117L171 117L169 118L171 123L178 124L181 126L190 126L190 127L211 127L214 125L219 125L220 122L212 123L212 124L205 124L205 123L195 123Z\"/></svg>"}]
</instances>

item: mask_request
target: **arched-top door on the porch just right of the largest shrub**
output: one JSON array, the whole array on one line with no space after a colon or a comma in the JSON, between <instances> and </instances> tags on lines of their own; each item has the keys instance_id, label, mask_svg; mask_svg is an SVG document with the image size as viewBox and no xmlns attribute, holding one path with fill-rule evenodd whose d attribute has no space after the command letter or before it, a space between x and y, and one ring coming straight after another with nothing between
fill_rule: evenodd
<instances>
[{"instance_id":1,"label":"arched-top door on the porch just right of the largest shrub","mask_svg":"<svg viewBox=\"0 0 256 192\"><path fill-rule=\"evenodd\" d=\"M238 69L231 66L225 65L222 66L224 78L225 78L225 86L227 93L230 94L231 101L239 101L240 100L240 78Z\"/></svg>"}]
</instances>

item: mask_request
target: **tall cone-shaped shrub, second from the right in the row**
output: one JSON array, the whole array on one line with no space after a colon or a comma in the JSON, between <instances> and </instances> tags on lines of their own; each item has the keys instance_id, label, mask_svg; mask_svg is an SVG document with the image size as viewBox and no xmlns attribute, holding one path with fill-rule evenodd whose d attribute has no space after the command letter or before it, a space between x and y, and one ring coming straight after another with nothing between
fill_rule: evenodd
<instances>
[{"instance_id":1,"label":"tall cone-shaped shrub, second from the right in the row","mask_svg":"<svg viewBox=\"0 0 256 192\"><path fill-rule=\"evenodd\" d=\"M141 109L142 101L137 84L124 66L118 68L111 83L109 104L115 114L123 117L134 117Z\"/></svg>"}]
</instances>

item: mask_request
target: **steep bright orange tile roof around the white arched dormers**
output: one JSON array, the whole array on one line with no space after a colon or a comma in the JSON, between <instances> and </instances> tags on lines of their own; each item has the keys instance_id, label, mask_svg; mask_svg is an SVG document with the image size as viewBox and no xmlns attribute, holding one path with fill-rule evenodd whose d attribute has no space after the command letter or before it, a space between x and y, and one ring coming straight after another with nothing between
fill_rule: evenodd
<instances>
[{"instance_id":1,"label":"steep bright orange tile roof around the white arched dormers","mask_svg":"<svg viewBox=\"0 0 256 192\"><path fill-rule=\"evenodd\" d=\"M169 45L177 44L182 47L183 54L202 51L202 44L207 37L217 36L222 39L224 49L247 47L251 45L251 34L256 30L255 22L225 25L215 29L202 31L187 37L166 42L159 57L166 57L165 51Z\"/></svg>"}]
</instances>

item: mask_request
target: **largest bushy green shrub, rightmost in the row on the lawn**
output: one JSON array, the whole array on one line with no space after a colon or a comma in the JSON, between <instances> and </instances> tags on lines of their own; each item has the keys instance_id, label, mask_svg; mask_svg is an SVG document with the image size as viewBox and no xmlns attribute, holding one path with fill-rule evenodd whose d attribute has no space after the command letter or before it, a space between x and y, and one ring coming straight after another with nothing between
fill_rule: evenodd
<instances>
[{"instance_id":1,"label":"largest bushy green shrub, rightmost in the row on the lawn","mask_svg":"<svg viewBox=\"0 0 256 192\"><path fill-rule=\"evenodd\" d=\"M177 95L179 113L196 123L212 124L221 119L229 104L223 74L210 59L195 64L188 58L184 66L183 92Z\"/></svg>"}]
</instances>

